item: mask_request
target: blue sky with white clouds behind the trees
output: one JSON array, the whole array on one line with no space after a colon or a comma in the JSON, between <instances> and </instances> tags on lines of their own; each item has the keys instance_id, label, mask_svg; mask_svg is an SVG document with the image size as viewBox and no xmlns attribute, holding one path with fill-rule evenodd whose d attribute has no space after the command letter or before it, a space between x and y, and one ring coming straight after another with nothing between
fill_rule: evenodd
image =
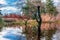
<instances>
[{"instance_id":1,"label":"blue sky with white clouds behind the trees","mask_svg":"<svg viewBox=\"0 0 60 40\"><path fill-rule=\"evenodd\" d=\"M24 6L24 0L0 0L0 10L2 13L21 13L21 7ZM58 0L54 0L56 4Z\"/></svg>"}]
</instances>

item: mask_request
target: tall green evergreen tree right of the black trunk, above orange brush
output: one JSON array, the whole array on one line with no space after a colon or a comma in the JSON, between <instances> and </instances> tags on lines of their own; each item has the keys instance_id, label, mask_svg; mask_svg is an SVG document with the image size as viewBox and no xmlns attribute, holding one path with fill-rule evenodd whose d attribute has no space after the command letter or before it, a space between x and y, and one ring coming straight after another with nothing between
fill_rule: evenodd
<instances>
[{"instance_id":1,"label":"tall green evergreen tree right of the black trunk, above orange brush","mask_svg":"<svg viewBox=\"0 0 60 40\"><path fill-rule=\"evenodd\" d=\"M49 13L50 16L56 16L58 14L53 0L46 0L46 12Z\"/></svg>"}]
</instances>

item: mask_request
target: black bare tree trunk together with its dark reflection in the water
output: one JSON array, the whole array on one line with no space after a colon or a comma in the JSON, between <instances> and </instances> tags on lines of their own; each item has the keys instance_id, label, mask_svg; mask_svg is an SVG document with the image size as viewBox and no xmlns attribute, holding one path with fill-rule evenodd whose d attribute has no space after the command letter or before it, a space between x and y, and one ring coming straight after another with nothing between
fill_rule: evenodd
<instances>
[{"instance_id":1,"label":"black bare tree trunk together with its dark reflection in the water","mask_svg":"<svg viewBox=\"0 0 60 40\"><path fill-rule=\"evenodd\" d=\"M38 39L37 40L41 40L41 24L42 24L42 18L40 15L40 6L37 7L38 8L38 14L37 14L37 22L38 22Z\"/></svg>"}]
</instances>

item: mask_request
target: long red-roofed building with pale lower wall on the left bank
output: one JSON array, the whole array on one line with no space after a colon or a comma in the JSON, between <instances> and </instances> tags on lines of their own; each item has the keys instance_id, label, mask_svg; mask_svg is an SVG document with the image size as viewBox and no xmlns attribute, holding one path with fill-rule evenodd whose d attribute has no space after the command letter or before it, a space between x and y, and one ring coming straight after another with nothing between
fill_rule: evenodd
<instances>
[{"instance_id":1,"label":"long red-roofed building with pale lower wall on the left bank","mask_svg":"<svg viewBox=\"0 0 60 40\"><path fill-rule=\"evenodd\" d=\"M29 19L29 17L27 17L26 15L20 16L17 14L9 14L3 16L3 20L5 22L19 22L20 20L24 20L24 19Z\"/></svg>"}]
</instances>

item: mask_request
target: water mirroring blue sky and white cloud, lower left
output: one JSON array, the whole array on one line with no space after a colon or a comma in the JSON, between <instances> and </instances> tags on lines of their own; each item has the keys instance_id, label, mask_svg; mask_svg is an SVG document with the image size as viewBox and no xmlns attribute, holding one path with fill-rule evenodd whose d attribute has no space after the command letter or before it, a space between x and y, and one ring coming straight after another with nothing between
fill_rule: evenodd
<instances>
[{"instance_id":1,"label":"water mirroring blue sky and white cloud, lower left","mask_svg":"<svg viewBox=\"0 0 60 40\"><path fill-rule=\"evenodd\" d=\"M3 28L0 32L0 40L26 40L24 34L22 34L22 28Z\"/></svg>"}]
</instances>

